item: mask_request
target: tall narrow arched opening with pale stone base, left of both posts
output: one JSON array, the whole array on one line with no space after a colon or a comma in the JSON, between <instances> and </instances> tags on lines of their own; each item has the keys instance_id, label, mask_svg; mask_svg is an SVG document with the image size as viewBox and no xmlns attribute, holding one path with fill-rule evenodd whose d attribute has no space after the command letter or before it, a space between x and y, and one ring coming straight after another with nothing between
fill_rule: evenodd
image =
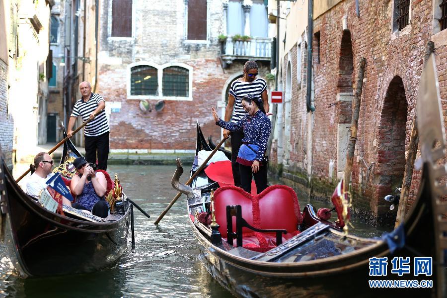
<instances>
[{"instance_id":1,"label":"tall narrow arched opening with pale stone base, left of both posts","mask_svg":"<svg viewBox=\"0 0 447 298\"><path fill-rule=\"evenodd\" d=\"M351 32L343 30L340 44L339 68L337 78L337 176L341 177L346 165L348 134L352 118L352 74L354 62Z\"/></svg>"}]
</instances>

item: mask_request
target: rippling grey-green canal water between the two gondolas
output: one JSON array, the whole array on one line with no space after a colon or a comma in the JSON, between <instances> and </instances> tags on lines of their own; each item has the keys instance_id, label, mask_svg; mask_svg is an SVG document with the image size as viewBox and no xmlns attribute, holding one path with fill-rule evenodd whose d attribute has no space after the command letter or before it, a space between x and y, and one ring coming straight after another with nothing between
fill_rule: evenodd
<instances>
[{"instance_id":1,"label":"rippling grey-green canal water between the two gondolas","mask_svg":"<svg viewBox=\"0 0 447 298\"><path fill-rule=\"evenodd\" d=\"M200 261L197 241L188 224L184 196L158 226L153 224L177 194L170 185L174 171L175 166L108 167L111 176L118 173L126 195L151 215L148 219L134 208L135 248L131 247L129 235L127 251L111 268L92 274L23 280L14 273L6 250L0 245L0 296L231 297ZM185 172L183 182L187 180L188 171ZM14 177L20 175L16 173ZM307 202L300 199L301 208ZM316 207L330 207L322 202L311 203ZM382 229L366 226L356 218L353 223L356 228L351 230L352 234L373 237L383 233Z\"/></svg>"}]
</instances>

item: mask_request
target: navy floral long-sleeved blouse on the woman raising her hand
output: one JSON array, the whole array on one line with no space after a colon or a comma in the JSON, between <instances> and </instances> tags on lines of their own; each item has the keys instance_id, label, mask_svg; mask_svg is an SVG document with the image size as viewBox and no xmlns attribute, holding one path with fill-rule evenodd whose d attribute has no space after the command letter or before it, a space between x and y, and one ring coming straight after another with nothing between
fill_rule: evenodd
<instances>
[{"instance_id":1,"label":"navy floral long-sleeved blouse on the woman raising her hand","mask_svg":"<svg viewBox=\"0 0 447 298\"><path fill-rule=\"evenodd\" d=\"M258 110L253 116L246 114L236 123L226 122L219 119L216 124L229 131L243 129L244 138L242 139L242 142L257 145L259 149L255 159L257 161L262 161L264 159L272 124L270 123L269 117L267 117L261 110Z\"/></svg>"}]
</instances>

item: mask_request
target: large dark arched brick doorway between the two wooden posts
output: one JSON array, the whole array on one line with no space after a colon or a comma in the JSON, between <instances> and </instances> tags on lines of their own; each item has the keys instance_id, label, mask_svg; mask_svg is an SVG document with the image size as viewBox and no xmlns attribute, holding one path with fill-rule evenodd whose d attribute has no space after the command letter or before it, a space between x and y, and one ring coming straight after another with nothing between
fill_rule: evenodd
<instances>
[{"instance_id":1,"label":"large dark arched brick doorway between the two wooden posts","mask_svg":"<svg viewBox=\"0 0 447 298\"><path fill-rule=\"evenodd\" d=\"M377 164L374 167L375 198L379 221L394 222L395 211L390 211L383 198L402 186L405 171L405 130L407 100L402 79L395 76L386 91L380 124L377 128Z\"/></svg>"}]
</instances>

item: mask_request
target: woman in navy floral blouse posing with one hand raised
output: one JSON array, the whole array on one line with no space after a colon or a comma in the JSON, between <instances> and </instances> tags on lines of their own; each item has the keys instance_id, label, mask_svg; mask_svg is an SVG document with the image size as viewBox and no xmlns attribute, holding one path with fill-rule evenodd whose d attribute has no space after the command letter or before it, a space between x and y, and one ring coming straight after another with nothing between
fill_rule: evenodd
<instances>
[{"instance_id":1,"label":"woman in navy floral blouse posing with one hand raised","mask_svg":"<svg viewBox=\"0 0 447 298\"><path fill-rule=\"evenodd\" d=\"M236 123L225 122L220 119L214 107L212 113L216 125L229 131L243 129L243 144L239 149L236 160L239 163L240 182L242 189L250 193L251 179L254 176L256 190L259 194L267 188L267 167L262 165L262 162L272 124L265 113L261 99L249 94L242 99L241 103L247 114Z\"/></svg>"}]
</instances>

